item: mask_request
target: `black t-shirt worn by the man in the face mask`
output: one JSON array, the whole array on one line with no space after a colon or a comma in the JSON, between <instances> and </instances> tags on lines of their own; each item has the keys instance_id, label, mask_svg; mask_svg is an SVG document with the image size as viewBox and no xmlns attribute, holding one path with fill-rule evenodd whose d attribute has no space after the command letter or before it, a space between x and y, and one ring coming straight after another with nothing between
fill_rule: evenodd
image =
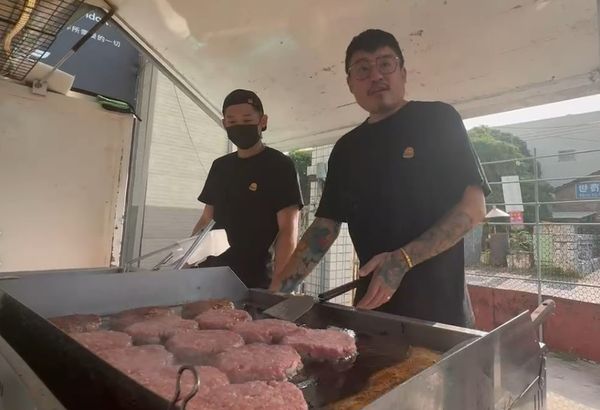
<instances>
[{"instance_id":1,"label":"black t-shirt worn by the man in the face mask","mask_svg":"<svg viewBox=\"0 0 600 410\"><path fill-rule=\"evenodd\" d=\"M269 147L250 158L225 155L213 162L198 200L214 207L215 229L227 233L230 248L218 264L248 287L268 287L277 212L303 206L292 160Z\"/></svg>"}]
</instances>

